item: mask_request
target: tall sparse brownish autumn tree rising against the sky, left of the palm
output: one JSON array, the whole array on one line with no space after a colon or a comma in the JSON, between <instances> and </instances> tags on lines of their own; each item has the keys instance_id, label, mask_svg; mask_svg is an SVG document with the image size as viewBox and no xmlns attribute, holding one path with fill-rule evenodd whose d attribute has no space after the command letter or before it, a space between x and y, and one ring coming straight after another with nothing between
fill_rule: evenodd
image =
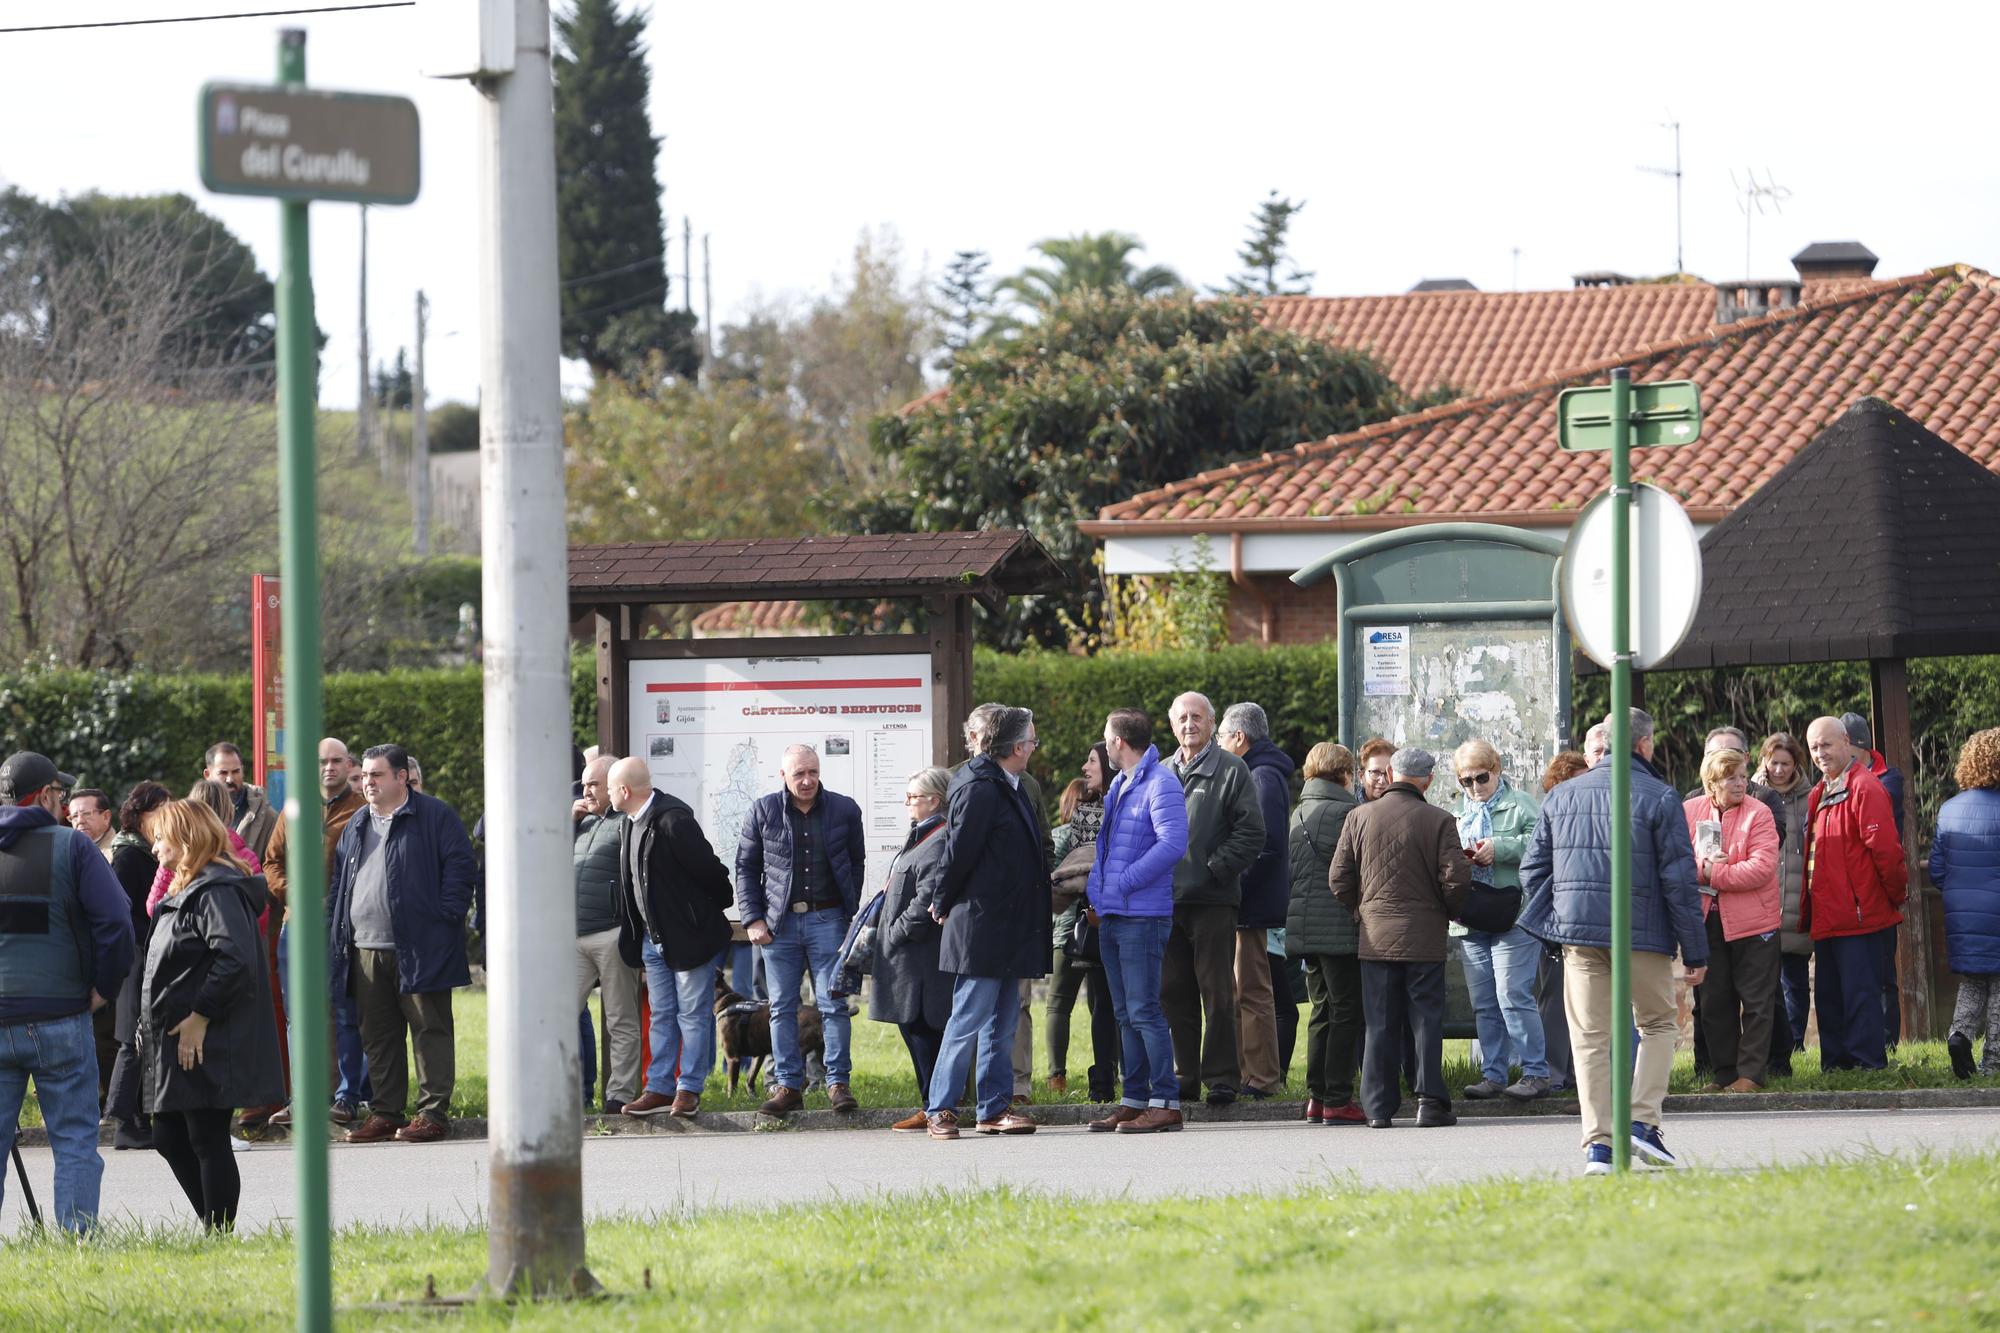
<instances>
[{"instance_id":1,"label":"tall sparse brownish autumn tree rising against the sky, left of the palm","mask_svg":"<svg viewBox=\"0 0 2000 1333\"><path fill-rule=\"evenodd\" d=\"M830 474L860 488L884 464L868 444L868 422L924 394L934 344L924 286L904 278L902 242L882 228L860 234L852 272L804 312L774 302L724 328L716 378L784 398Z\"/></svg>"}]
</instances>

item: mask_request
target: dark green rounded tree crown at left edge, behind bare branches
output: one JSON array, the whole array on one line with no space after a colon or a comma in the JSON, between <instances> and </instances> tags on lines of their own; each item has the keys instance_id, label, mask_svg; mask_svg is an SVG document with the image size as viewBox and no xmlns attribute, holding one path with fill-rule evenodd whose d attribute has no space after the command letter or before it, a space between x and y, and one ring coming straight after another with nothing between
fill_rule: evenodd
<instances>
[{"instance_id":1,"label":"dark green rounded tree crown at left edge, behind bare branches","mask_svg":"<svg viewBox=\"0 0 2000 1333\"><path fill-rule=\"evenodd\" d=\"M156 372L216 370L232 362L268 368L278 330L270 278L250 246L186 194L90 192L44 204L22 190L6 190L0 194L0 270L16 280L10 298L38 318L52 318L56 274L74 292L94 266L102 284L110 278L106 266L114 256L116 262L128 258L138 232L168 246L182 288L168 340L156 348Z\"/></svg>"}]
</instances>

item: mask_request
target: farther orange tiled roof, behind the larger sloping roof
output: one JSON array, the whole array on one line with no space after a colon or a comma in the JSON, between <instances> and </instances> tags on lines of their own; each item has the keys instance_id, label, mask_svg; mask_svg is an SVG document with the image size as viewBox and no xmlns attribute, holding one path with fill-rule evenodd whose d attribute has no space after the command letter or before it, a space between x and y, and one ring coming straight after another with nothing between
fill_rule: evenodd
<instances>
[{"instance_id":1,"label":"farther orange tiled roof, behind the larger sloping roof","mask_svg":"<svg viewBox=\"0 0 2000 1333\"><path fill-rule=\"evenodd\" d=\"M1692 338L1716 318L1706 282L1560 292L1270 296L1264 324L1372 352L1404 392L1490 394L1586 360Z\"/></svg>"}]
</instances>

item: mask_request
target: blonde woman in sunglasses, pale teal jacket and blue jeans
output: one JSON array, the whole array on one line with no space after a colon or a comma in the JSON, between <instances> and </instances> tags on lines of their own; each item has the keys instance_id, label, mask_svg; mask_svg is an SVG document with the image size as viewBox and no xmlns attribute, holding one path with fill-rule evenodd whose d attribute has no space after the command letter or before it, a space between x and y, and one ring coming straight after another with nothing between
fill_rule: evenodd
<instances>
[{"instance_id":1,"label":"blonde woman in sunglasses, pale teal jacket and blue jeans","mask_svg":"<svg viewBox=\"0 0 2000 1333\"><path fill-rule=\"evenodd\" d=\"M1534 835L1536 803L1500 775L1500 753L1484 741L1466 741L1452 757L1458 765L1458 843L1472 859L1472 893L1508 895L1520 909L1520 859ZM1472 1017L1480 1033L1480 1081L1466 1097L1534 1101L1548 1093L1548 1047L1534 983L1542 943L1510 923L1504 931L1466 931L1460 941ZM1520 1081L1508 1083L1508 1067Z\"/></svg>"}]
</instances>

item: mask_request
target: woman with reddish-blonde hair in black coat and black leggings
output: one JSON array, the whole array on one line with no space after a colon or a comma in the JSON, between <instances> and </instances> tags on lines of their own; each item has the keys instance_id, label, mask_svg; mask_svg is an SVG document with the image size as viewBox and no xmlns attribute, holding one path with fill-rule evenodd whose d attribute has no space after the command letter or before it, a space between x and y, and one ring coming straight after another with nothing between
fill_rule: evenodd
<instances>
[{"instance_id":1,"label":"woman with reddish-blonde hair in black coat and black leggings","mask_svg":"<svg viewBox=\"0 0 2000 1333\"><path fill-rule=\"evenodd\" d=\"M144 827L152 855L170 871L140 983L144 1105L154 1149L202 1225L230 1229L242 1193L230 1113L284 1101L256 929L270 891L206 805L168 801Z\"/></svg>"}]
</instances>

